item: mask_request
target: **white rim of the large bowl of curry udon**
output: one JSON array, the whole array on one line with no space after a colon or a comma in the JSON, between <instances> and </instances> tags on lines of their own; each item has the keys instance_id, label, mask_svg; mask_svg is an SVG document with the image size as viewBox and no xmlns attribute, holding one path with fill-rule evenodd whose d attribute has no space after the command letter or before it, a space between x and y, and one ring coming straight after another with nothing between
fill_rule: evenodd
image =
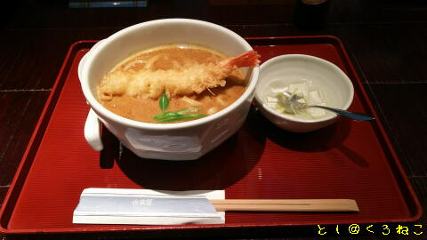
<instances>
[{"instance_id":1,"label":"white rim of the large bowl of curry udon","mask_svg":"<svg viewBox=\"0 0 427 240\"><path fill-rule=\"evenodd\" d=\"M259 66L252 67L252 71L249 75L248 81L249 83L246 85L246 91L243 92L243 94L238 98L238 100L235 100L233 103L230 104L227 108L222 109L221 111L215 113L211 116L205 116L202 118L198 118L195 120L191 120L188 122L182 122L182 123L173 123L173 124L156 124L156 123L143 123L136 120L132 120L129 118L126 118L124 116L118 116L117 114L109 111L109 109L103 107L101 103L96 100L96 97L93 95L90 86L89 86L89 67L91 66L93 62L94 56L98 52L103 51L106 46L114 42L115 39L120 38L122 36L126 36L128 32L131 31L137 31L141 28L147 28L152 27L155 25L165 25L165 24L190 24L190 25L197 25L201 26L203 28L213 28L217 31L222 31L224 34L229 35L231 38L234 38L239 43L243 45L243 48L245 51L251 51L254 50L250 44L246 42L246 40L239 36L237 33L231 31L229 28L224 28L220 25L214 24L212 22L204 21L204 20L192 20L192 19L161 19L161 20L149 20L144 21L138 24L135 24L133 26L124 28L122 30L117 31L113 35L101 40L102 43L98 44L96 47L91 49L91 51L87 52L85 57L84 66L82 67L82 78L81 84L82 84L82 90L85 95L85 99L93 108L93 110L101 116L101 118L108 119L111 122L123 124L128 127L133 127L137 129L147 129L147 130L155 130L155 131L168 131L173 129L185 129L190 128L198 125L207 124L209 122L215 122L215 120L222 118L222 116L226 116L230 114L232 110L235 108L238 108L239 105L244 104L244 102L251 98L251 95L254 95L255 86L258 82L258 75L259 75ZM243 53L243 52L242 52Z\"/></svg>"}]
</instances>

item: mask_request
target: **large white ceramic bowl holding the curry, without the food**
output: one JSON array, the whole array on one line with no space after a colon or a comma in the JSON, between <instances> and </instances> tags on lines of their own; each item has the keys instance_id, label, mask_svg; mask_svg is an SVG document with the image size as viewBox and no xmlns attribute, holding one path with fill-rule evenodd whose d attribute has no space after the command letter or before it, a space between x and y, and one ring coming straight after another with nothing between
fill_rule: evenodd
<instances>
[{"instance_id":1,"label":"large white ceramic bowl holding the curry, without the food","mask_svg":"<svg viewBox=\"0 0 427 240\"><path fill-rule=\"evenodd\" d=\"M79 64L79 78L92 110L85 138L101 150L98 120L137 156L167 160L192 160L216 148L237 132L254 99L259 67L246 68L246 92L230 107L197 120L176 124L147 124L110 112L96 100L102 76L135 52L161 44L201 44L228 55L252 50L241 36L227 28L201 20L152 20L125 28L96 44Z\"/></svg>"}]
</instances>

